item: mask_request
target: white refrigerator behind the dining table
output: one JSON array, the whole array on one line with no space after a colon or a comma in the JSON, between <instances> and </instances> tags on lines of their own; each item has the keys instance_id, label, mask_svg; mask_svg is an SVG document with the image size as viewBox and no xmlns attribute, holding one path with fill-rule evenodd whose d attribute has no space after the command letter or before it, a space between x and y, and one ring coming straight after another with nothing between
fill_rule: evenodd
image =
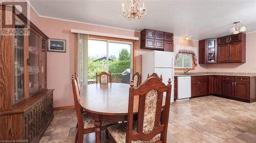
<instances>
[{"instance_id":1,"label":"white refrigerator behind the dining table","mask_svg":"<svg viewBox=\"0 0 256 143\"><path fill-rule=\"evenodd\" d=\"M167 85L168 78L172 81L171 102L174 102L174 52L150 51L142 54L142 82L147 74L162 74L163 82Z\"/></svg>"}]
</instances>

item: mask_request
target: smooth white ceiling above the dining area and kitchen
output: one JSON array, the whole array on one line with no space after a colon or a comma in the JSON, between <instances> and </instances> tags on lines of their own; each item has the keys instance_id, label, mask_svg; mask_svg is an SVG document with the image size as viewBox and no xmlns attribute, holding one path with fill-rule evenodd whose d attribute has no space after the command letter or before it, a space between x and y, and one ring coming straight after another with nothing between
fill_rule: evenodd
<instances>
[{"instance_id":1,"label":"smooth white ceiling above the dining area and kitchen","mask_svg":"<svg viewBox=\"0 0 256 143\"><path fill-rule=\"evenodd\" d=\"M122 3L126 1L30 1L41 16L134 31L151 28L195 40L229 35L230 23L237 20L244 23L246 33L256 31L256 1L145 0L147 14L142 21L123 19Z\"/></svg>"}]
</instances>

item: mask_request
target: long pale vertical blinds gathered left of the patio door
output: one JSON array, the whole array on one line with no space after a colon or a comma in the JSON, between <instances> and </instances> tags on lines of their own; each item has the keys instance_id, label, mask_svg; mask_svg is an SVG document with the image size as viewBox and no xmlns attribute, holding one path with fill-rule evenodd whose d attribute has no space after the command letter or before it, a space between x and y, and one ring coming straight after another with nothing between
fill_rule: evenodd
<instances>
[{"instance_id":1,"label":"long pale vertical blinds gathered left of the patio door","mask_svg":"<svg viewBox=\"0 0 256 143\"><path fill-rule=\"evenodd\" d=\"M80 86L87 85L88 73L88 35L76 33L76 73L80 81Z\"/></svg>"}]
</instances>

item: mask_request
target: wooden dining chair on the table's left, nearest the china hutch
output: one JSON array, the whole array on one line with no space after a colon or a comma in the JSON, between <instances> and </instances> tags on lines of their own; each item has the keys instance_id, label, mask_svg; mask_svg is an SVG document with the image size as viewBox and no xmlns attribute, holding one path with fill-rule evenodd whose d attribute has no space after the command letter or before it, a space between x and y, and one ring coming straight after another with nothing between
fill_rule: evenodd
<instances>
[{"instance_id":1,"label":"wooden dining chair on the table's left, nearest the china hutch","mask_svg":"<svg viewBox=\"0 0 256 143\"><path fill-rule=\"evenodd\" d=\"M77 117L77 133L75 142L81 143L83 141L83 134L88 134L95 132L94 120L86 112L83 112L82 107L80 106L79 99L80 93L78 91L77 81L75 74L72 74L72 88L73 96L75 101L76 117ZM108 126L114 125L116 122L102 121L101 130L106 130Z\"/></svg>"}]
</instances>

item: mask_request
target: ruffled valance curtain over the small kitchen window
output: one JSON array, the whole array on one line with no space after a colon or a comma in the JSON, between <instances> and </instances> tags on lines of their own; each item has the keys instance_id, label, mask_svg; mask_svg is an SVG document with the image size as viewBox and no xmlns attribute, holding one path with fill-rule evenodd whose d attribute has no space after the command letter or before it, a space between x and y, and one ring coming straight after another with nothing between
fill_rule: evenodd
<instances>
[{"instance_id":1,"label":"ruffled valance curtain over the small kitchen window","mask_svg":"<svg viewBox=\"0 0 256 143\"><path fill-rule=\"evenodd\" d=\"M197 66L197 47L174 45L175 64L176 64L176 59L181 53L192 54L193 58L195 59L195 67Z\"/></svg>"}]
</instances>

